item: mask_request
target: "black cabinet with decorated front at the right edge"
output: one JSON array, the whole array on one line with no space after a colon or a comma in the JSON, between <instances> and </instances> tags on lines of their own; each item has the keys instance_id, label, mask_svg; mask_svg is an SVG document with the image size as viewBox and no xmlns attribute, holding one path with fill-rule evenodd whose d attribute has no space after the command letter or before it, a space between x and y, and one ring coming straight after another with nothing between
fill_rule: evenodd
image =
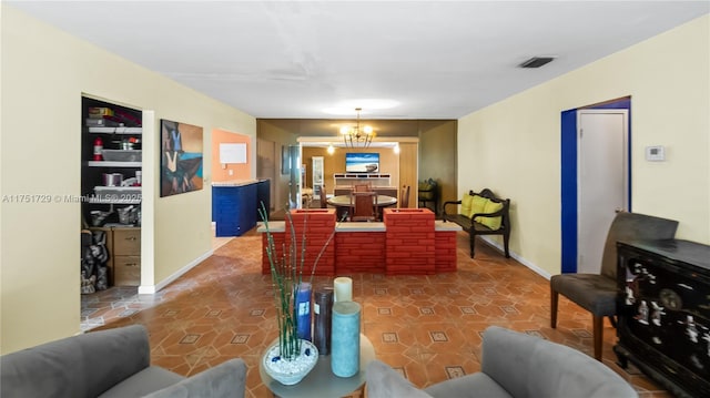
<instances>
[{"instance_id":1,"label":"black cabinet with decorated front at the right edge","mask_svg":"<svg viewBox=\"0 0 710 398\"><path fill-rule=\"evenodd\" d=\"M680 239L617 244L618 344L677 397L710 397L710 246Z\"/></svg>"}]
</instances>

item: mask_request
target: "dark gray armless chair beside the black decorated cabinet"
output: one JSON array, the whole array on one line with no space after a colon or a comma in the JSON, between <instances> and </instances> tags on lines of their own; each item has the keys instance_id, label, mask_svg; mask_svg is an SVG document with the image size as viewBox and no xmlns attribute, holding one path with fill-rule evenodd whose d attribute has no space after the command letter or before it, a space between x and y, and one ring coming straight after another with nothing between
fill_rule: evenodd
<instances>
[{"instance_id":1,"label":"dark gray armless chair beside the black decorated cabinet","mask_svg":"<svg viewBox=\"0 0 710 398\"><path fill-rule=\"evenodd\" d=\"M601 360L604 317L617 315L617 242L670 239L678 222L639 213L619 212L611 222L601 257L601 274L560 274L550 278L550 326L557 327L559 295L591 313L595 358Z\"/></svg>"}]
</instances>

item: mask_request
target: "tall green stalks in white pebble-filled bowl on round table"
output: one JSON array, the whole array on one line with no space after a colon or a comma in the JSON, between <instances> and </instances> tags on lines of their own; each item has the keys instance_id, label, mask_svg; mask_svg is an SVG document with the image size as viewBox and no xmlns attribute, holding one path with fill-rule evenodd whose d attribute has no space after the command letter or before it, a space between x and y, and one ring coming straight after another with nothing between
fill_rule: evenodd
<instances>
[{"instance_id":1,"label":"tall green stalks in white pebble-filled bowl on round table","mask_svg":"<svg viewBox=\"0 0 710 398\"><path fill-rule=\"evenodd\" d=\"M318 358L318 350L310 340L298 337L298 305L296 296L300 289L313 286L313 277L318 261L335 236L335 228L321 248L315 258L310 275L305 275L304 266L306 258L307 236L307 214L304 218L301 238L296 234L291 212L286 210L285 239L290 239L290 245L283 244L281 251L274 243L271 228L268 226L268 213L264 204L258 210L266 234L266 255L271 269L271 277L274 288L274 303L276 307L276 323L278 327L278 339L266 349L263 357L263 366L266 373L275 380L284 385L294 385L301 381L315 366ZM300 243L300 244L298 244ZM310 325L308 325L310 330Z\"/></svg>"}]
</instances>

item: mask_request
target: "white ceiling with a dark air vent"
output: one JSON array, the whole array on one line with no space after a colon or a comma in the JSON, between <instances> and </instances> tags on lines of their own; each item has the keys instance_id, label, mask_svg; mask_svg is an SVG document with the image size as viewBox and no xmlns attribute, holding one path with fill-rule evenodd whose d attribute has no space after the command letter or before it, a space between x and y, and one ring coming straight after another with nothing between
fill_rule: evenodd
<instances>
[{"instance_id":1,"label":"white ceiling with a dark air vent","mask_svg":"<svg viewBox=\"0 0 710 398\"><path fill-rule=\"evenodd\" d=\"M709 1L7 1L264 119L458 119ZM534 55L556 60L516 68ZM367 99L396 106L377 110ZM323 110L341 106L346 114Z\"/></svg>"}]
</instances>

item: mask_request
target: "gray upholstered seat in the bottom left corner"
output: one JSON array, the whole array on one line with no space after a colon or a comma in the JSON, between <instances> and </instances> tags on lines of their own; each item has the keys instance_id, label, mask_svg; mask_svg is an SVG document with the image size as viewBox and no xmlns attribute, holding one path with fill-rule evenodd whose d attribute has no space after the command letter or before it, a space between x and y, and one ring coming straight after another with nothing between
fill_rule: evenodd
<instances>
[{"instance_id":1,"label":"gray upholstered seat in the bottom left corner","mask_svg":"<svg viewBox=\"0 0 710 398\"><path fill-rule=\"evenodd\" d=\"M0 357L0 396L22 398L244 397L246 365L231 359L185 378L150 365L141 325L92 331Z\"/></svg>"}]
</instances>

